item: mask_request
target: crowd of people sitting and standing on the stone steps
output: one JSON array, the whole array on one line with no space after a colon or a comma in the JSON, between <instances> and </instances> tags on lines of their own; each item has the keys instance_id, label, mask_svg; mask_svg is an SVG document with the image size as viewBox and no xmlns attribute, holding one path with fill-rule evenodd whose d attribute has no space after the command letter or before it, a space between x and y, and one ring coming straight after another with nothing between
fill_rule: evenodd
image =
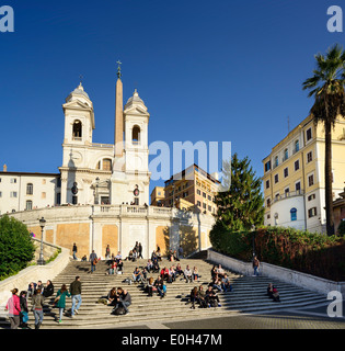
<instances>
[{"instance_id":1,"label":"crowd of people sitting and standing on the stone steps","mask_svg":"<svg viewBox=\"0 0 345 351\"><path fill-rule=\"evenodd\" d=\"M123 273L123 258L120 251L115 256L111 254L110 247L106 247L105 251L106 263L108 265L106 274L122 274ZM136 267L131 272L131 278L128 278L123 281L123 283L142 283L143 291L147 293L147 296L153 297L158 295L161 298L166 296L166 285L173 284L176 280L185 281L185 283L198 283L187 295L188 303L191 303L191 308L195 309L196 305L199 305L200 308L209 307L220 307L220 301L218 293L229 293L232 291L231 281L223 270L221 264L214 265L210 270L211 280L207 283L207 287L204 288L204 285L200 283L200 275L197 267L186 267L183 269L180 263L180 258L182 257L182 250L168 251L168 261L171 264L160 267L162 262L162 256L160 248L157 247L151 254L151 258L147 261L143 267ZM73 259L77 258L77 246L73 246ZM133 250L130 250L128 257L124 261L135 262L138 258L142 258L142 246L138 241L136 242ZM83 258L87 261L87 258ZM97 258L94 250L92 250L89 262L91 262L91 273L95 271L96 263L100 259ZM175 264L175 261L176 264ZM253 260L254 275L257 275L260 262L255 257ZM153 274L156 279L153 278ZM62 321L62 316L69 316L71 318L78 314L78 309L82 303L81 298L81 282L80 276L76 276L76 280L70 283L69 288L66 284L62 284L61 287L55 294L55 286L50 280L44 285L42 281L37 283L31 282L27 286L27 291L21 291L18 295L18 288L11 291L12 296L9 298L5 309L9 312L9 318L11 322L11 329L27 328L28 320L28 310L32 310L35 318L35 329L39 329L43 319L44 319L44 304L47 304L47 298L50 298L49 303L53 307L58 308L58 314L56 314L56 321L59 324ZM54 295L55 294L55 295ZM272 283L268 284L266 295L272 298L274 302L280 302L279 293L277 287ZM54 297L54 301L53 301ZM66 314L66 301L71 298L72 306L69 314ZM31 308L28 309L28 301L31 301ZM113 307L112 314L114 315L127 315L129 313L129 306L131 305L131 296L126 288L123 287L113 287L104 303Z\"/></svg>"}]
</instances>

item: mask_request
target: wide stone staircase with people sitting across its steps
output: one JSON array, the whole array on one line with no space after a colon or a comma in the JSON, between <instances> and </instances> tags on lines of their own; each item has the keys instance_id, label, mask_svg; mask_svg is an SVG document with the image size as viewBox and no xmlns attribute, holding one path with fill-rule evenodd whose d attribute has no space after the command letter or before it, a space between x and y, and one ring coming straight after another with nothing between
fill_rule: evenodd
<instances>
[{"instance_id":1,"label":"wide stone staircase with people sitting across its steps","mask_svg":"<svg viewBox=\"0 0 345 351\"><path fill-rule=\"evenodd\" d=\"M198 319L229 316L239 313L260 313L281 308L299 308L322 304L325 296L289 285L283 282L273 281L264 276L244 276L233 272L227 272L232 282L232 292L219 293L221 307L191 309L188 294L194 286L204 285L207 288L210 282L210 270L212 264L202 259L184 259L180 263L185 269L186 264L191 268L196 265L199 272L199 282L186 283L185 280L176 279L173 283L166 283L166 296L160 298L153 294L149 297L143 291L143 284L128 284L123 281L131 278L135 267L146 265L147 260L136 262L124 262L124 274L106 274L108 265L106 261L100 261L95 272L90 273L90 263L81 261L70 261L67 268L53 281L55 294L62 284L69 287L69 284L79 275L82 283L82 305L79 314L74 318L69 317L71 308L71 298L67 297L66 313L62 324L55 321L58 317L58 308L53 306L54 297L47 298L44 308L44 321L42 329L61 329L61 328L117 328L130 324L146 325L150 321L172 321L183 319ZM175 262L176 263L176 262ZM160 267L170 267L171 263L163 259ZM156 279L158 273L148 276ZM274 283L280 294L280 303L275 303L266 296L268 283ZM129 314L123 316L112 315L113 307L97 303L102 297L106 297L112 287L122 286L131 295L131 305ZM28 304L30 305L30 304ZM7 327L8 320L0 321L1 327ZM30 313L30 328L34 328L33 313Z\"/></svg>"}]
</instances>

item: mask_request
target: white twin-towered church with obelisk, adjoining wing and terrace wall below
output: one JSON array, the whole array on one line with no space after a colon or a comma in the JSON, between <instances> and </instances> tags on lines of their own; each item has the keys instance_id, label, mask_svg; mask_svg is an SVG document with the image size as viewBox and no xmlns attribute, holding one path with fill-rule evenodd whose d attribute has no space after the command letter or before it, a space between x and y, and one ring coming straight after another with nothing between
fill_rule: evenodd
<instances>
[{"instance_id":1,"label":"white twin-towered church with obelisk, adjoining wing and terrace wall below","mask_svg":"<svg viewBox=\"0 0 345 351\"><path fill-rule=\"evenodd\" d=\"M186 253L210 247L211 215L149 206L150 114L137 90L123 105L119 69L115 100L114 144L93 143L93 103L80 83L62 104L59 173L24 174L3 169L0 215L9 213L22 220L38 238L38 219L44 217L44 240L70 250L76 242L78 257L92 250L104 257L107 245L112 253L122 251L126 257L136 241L141 242L145 258L157 246L164 252L182 245ZM11 189L5 184L16 185L12 195L16 192L20 200L10 201Z\"/></svg>"}]
</instances>

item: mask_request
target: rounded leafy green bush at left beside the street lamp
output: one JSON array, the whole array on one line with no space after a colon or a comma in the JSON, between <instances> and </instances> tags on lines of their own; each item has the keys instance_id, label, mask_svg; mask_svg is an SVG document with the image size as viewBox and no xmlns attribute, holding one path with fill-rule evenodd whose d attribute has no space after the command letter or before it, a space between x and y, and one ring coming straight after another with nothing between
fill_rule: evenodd
<instances>
[{"instance_id":1,"label":"rounded leafy green bush at left beside the street lamp","mask_svg":"<svg viewBox=\"0 0 345 351\"><path fill-rule=\"evenodd\" d=\"M8 215L0 217L0 276L7 278L24 269L34 252L26 226Z\"/></svg>"}]
</instances>

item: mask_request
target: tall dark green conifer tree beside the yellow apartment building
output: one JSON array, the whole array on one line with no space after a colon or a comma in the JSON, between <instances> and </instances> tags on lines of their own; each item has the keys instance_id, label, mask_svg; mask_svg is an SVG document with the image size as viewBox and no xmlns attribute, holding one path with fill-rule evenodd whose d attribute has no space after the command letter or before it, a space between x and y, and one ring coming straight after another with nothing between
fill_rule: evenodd
<instances>
[{"instance_id":1,"label":"tall dark green conifer tree beside the yellow apartment building","mask_svg":"<svg viewBox=\"0 0 345 351\"><path fill-rule=\"evenodd\" d=\"M215 228L245 231L261 226L264 220L261 179L256 178L249 158L241 160L234 154L231 162L223 162L222 177L222 191L215 196L218 206Z\"/></svg>"}]
</instances>

